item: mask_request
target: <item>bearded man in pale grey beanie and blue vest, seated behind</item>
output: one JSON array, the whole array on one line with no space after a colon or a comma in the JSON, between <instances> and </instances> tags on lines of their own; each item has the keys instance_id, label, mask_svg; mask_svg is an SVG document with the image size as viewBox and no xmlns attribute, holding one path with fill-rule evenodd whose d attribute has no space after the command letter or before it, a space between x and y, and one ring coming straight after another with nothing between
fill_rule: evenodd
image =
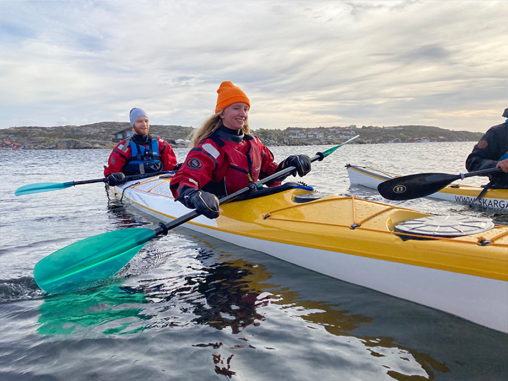
<instances>
[{"instance_id":1,"label":"bearded man in pale grey beanie and blue vest, seated behind","mask_svg":"<svg viewBox=\"0 0 508 381\"><path fill-rule=\"evenodd\" d=\"M160 136L148 134L150 123L143 109L129 113L133 136L122 140L109 155L104 176L111 186L123 184L125 175L171 171L176 165L173 148Z\"/></svg>"}]
</instances>

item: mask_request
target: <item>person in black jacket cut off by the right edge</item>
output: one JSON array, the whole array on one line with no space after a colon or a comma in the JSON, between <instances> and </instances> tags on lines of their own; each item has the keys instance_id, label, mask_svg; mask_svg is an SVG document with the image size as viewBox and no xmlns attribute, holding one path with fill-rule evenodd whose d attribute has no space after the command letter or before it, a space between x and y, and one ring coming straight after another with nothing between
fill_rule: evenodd
<instances>
[{"instance_id":1,"label":"person in black jacket cut off by the right edge","mask_svg":"<svg viewBox=\"0 0 508 381\"><path fill-rule=\"evenodd\" d=\"M508 108L502 115L508 118ZM492 126L467 156L469 172L499 167L501 172L489 174L490 188L508 189L508 119Z\"/></svg>"}]
</instances>

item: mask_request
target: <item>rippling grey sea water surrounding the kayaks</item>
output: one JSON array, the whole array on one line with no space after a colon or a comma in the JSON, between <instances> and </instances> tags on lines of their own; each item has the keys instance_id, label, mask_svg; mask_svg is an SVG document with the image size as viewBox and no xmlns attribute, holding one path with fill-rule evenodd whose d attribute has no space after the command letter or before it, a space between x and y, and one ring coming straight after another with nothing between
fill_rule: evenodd
<instances>
[{"instance_id":1,"label":"rippling grey sea water surrounding the kayaks","mask_svg":"<svg viewBox=\"0 0 508 381\"><path fill-rule=\"evenodd\" d=\"M474 142L348 144L302 180L352 186L345 165L458 174ZM276 161L330 146L270 147ZM176 149L183 161L186 149ZM77 240L159 222L103 183L25 196L22 185L102 178L109 150L0 151L1 380L506 380L508 335L176 228L100 287L47 295L35 264ZM485 177L463 183L481 185ZM433 214L506 215L446 201L394 204ZM508 311L507 311L508 313Z\"/></svg>"}]
</instances>

